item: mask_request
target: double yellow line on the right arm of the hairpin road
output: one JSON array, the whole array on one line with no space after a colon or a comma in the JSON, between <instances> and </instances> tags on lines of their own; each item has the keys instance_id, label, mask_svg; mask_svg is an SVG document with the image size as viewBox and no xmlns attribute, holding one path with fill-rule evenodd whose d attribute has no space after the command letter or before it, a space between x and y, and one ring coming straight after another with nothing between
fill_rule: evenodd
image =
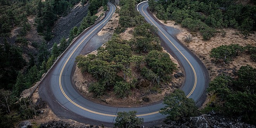
<instances>
[{"instance_id":1,"label":"double yellow line on the right arm of the hairpin road","mask_svg":"<svg viewBox=\"0 0 256 128\"><path fill-rule=\"evenodd\" d=\"M152 24L154 24L154 26L156 26L156 24L145 14L145 12L144 12L144 10L143 10L143 8L144 8L145 5L146 5L146 4L144 4L144 5L142 6L142 12L143 12L144 15L152 22ZM188 97L194 92L195 86L196 86L196 84L197 84L197 76L196 76L196 73L195 73L195 69L194 69L194 67L192 66L192 64L189 62L189 60L187 59L187 57L185 57L185 55L182 54L182 52L173 44L173 42L171 42L171 40L163 33L163 31L161 31L157 26L156 26L156 28L157 28L157 29L164 35L164 37L173 45L173 47L175 47L176 50L177 50L178 52L180 52L180 54L181 54L181 55L185 58L185 60L189 63L190 67L192 68L192 70L193 70L193 72L194 72L195 83L194 83L194 86L193 86L191 92L187 95L187 98L188 98Z\"/></svg>"}]
</instances>

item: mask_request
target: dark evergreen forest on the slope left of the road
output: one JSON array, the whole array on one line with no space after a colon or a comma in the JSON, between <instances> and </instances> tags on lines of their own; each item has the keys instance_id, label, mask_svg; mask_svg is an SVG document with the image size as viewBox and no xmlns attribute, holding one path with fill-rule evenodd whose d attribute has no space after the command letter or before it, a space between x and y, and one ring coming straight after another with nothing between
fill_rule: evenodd
<instances>
[{"instance_id":1,"label":"dark evergreen forest on the slope left of the road","mask_svg":"<svg viewBox=\"0 0 256 128\"><path fill-rule=\"evenodd\" d=\"M32 118L35 106L23 98L21 92L39 81L50 69L57 57L64 52L69 43L84 29L94 24L97 16L90 11L83 18L80 27L71 30L69 40L62 38L47 49L51 40L55 21L66 16L69 10L80 0L1 0L0 1L0 125L13 127L15 123ZM90 10L95 13L100 6L106 6L106 0L83 0L89 2ZM35 26L41 42L31 42L35 50L29 50L28 31L31 24L28 17L35 17ZM14 31L17 30L17 31ZM14 32L13 32L14 31ZM17 33L17 34L13 34ZM57 45L59 44L59 45ZM21 100L19 100L22 98ZM30 105L30 106L29 106ZM28 107L29 106L29 107Z\"/></svg>"}]
</instances>

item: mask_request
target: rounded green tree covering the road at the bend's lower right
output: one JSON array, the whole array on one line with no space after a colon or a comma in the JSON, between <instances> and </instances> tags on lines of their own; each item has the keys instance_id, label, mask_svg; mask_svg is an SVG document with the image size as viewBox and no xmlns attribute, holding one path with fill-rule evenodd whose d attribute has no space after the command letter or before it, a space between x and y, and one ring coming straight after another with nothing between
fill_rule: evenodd
<instances>
[{"instance_id":1,"label":"rounded green tree covering the road at the bend's lower right","mask_svg":"<svg viewBox=\"0 0 256 128\"><path fill-rule=\"evenodd\" d=\"M196 116L198 113L197 107L193 99L187 98L182 90L176 89L170 95L164 97L166 106L161 108L161 114L168 114L167 119L181 120L183 117Z\"/></svg>"}]
</instances>

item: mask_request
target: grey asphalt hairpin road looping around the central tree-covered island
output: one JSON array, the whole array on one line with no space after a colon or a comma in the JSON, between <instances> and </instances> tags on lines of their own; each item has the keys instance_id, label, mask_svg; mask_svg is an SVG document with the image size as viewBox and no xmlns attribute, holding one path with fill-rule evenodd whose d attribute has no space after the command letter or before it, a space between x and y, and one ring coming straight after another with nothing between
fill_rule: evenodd
<instances>
[{"instance_id":1,"label":"grey asphalt hairpin road looping around the central tree-covered island","mask_svg":"<svg viewBox=\"0 0 256 128\"><path fill-rule=\"evenodd\" d=\"M82 123L105 126L113 126L116 114L119 111L137 111L137 116L144 118L144 125L151 125L165 118L159 114L159 109L164 104L154 104L144 107L111 107L96 104L83 98L72 86L71 74L75 64L75 58L80 54L86 43L96 35L109 21L116 7L108 3L109 12L103 21L87 29L75 42L59 57L54 66L47 73L39 86L39 95L46 100L52 111L59 117L73 119ZM147 2L138 5L138 10L145 17L145 20L159 29L158 35L164 42L164 47L175 55L176 59L183 65L186 79L182 90L187 97L196 101L197 105L202 104L201 97L208 85L208 72L201 61L189 50L184 48L173 38L166 28L157 22L147 12Z\"/></svg>"}]
</instances>

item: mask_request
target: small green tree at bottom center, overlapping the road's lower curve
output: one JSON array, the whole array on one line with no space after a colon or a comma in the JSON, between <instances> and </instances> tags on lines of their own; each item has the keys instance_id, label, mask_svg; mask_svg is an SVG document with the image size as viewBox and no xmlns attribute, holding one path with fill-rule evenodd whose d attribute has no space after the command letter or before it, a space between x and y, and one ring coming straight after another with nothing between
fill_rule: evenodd
<instances>
[{"instance_id":1,"label":"small green tree at bottom center, overlapping the road's lower curve","mask_svg":"<svg viewBox=\"0 0 256 128\"><path fill-rule=\"evenodd\" d=\"M136 117L136 111L118 112L114 128L140 128L143 118Z\"/></svg>"}]
</instances>

